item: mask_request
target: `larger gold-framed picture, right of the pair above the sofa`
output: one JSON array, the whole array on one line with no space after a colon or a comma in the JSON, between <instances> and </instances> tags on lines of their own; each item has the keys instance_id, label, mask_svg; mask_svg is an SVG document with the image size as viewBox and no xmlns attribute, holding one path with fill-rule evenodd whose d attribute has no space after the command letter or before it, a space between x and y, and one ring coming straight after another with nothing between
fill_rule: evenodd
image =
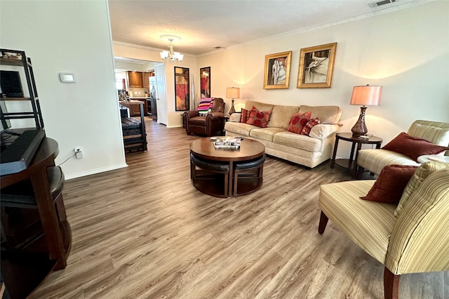
<instances>
[{"instance_id":1,"label":"larger gold-framed picture, right of the pair above the sofa","mask_svg":"<svg viewBox=\"0 0 449 299\"><path fill-rule=\"evenodd\" d=\"M297 88L330 88L337 43L302 48Z\"/></svg>"}]
</instances>

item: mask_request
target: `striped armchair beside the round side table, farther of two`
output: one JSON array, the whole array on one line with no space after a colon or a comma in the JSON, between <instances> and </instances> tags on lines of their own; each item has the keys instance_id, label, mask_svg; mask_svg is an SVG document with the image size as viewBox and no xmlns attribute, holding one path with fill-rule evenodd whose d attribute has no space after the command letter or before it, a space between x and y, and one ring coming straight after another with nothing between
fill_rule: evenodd
<instances>
[{"instance_id":1,"label":"striped armchair beside the round side table, farther of two","mask_svg":"<svg viewBox=\"0 0 449 299\"><path fill-rule=\"evenodd\" d=\"M449 123L440 121L417 120L411 124L406 132L414 138L422 138L435 145L447 147L449 145ZM384 149L366 149L358 151L357 175L361 178L363 171L370 171L377 175L382 168L391 164L420 166L417 161L398 152Z\"/></svg>"}]
</instances>

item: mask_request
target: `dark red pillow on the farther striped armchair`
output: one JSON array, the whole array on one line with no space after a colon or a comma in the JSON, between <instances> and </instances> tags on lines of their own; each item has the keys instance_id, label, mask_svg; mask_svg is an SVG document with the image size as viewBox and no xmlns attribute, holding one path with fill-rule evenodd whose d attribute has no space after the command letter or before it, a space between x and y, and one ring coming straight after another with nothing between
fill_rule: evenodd
<instances>
[{"instance_id":1,"label":"dark red pillow on the farther striped armchair","mask_svg":"<svg viewBox=\"0 0 449 299\"><path fill-rule=\"evenodd\" d=\"M438 154L438 152L443 152L443 150L449 150L449 147L435 145L425 139L415 138L402 132L382 149L398 152L417 161L418 157L424 154Z\"/></svg>"}]
</instances>

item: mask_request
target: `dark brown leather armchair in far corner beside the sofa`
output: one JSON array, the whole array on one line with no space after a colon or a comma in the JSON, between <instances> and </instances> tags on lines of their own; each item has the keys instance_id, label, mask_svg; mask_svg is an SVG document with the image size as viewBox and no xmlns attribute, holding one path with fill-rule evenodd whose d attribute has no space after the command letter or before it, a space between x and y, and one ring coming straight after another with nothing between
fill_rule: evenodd
<instances>
[{"instance_id":1,"label":"dark brown leather armchair in far corner beside the sofa","mask_svg":"<svg viewBox=\"0 0 449 299\"><path fill-rule=\"evenodd\" d=\"M200 115L199 111L186 111L184 117L185 131L187 135L198 134L212 136L214 133L225 130L225 102L222 98L213 98L213 104L206 115ZM207 111L207 109L206 109Z\"/></svg>"}]
</instances>

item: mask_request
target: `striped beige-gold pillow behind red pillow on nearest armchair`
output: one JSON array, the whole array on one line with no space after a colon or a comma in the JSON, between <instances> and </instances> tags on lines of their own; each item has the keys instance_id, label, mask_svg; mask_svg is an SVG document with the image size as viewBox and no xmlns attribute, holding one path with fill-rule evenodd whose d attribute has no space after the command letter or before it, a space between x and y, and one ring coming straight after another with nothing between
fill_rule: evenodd
<instances>
[{"instance_id":1,"label":"striped beige-gold pillow behind red pillow on nearest armchair","mask_svg":"<svg viewBox=\"0 0 449 299\"><path fill-rule=\"evenodd\" d=\"M399 213L401 212L402 208L410 198L410 196L413 194L415 190L417 190L418 187L422 184L422 182L432 173L439 171L443 168L448 168L448 163L442 163L442 162L436 162L431 161L428 163L422 164L420 167L417 168L415 173L413 174L412 178L406 185L406 188L404 189L404 192L401 196L401 200L399 201L399 204L394 211L394 215L397 217ZM448 178L449 180L449 178Z\"/></svg>"}]
</instances>

